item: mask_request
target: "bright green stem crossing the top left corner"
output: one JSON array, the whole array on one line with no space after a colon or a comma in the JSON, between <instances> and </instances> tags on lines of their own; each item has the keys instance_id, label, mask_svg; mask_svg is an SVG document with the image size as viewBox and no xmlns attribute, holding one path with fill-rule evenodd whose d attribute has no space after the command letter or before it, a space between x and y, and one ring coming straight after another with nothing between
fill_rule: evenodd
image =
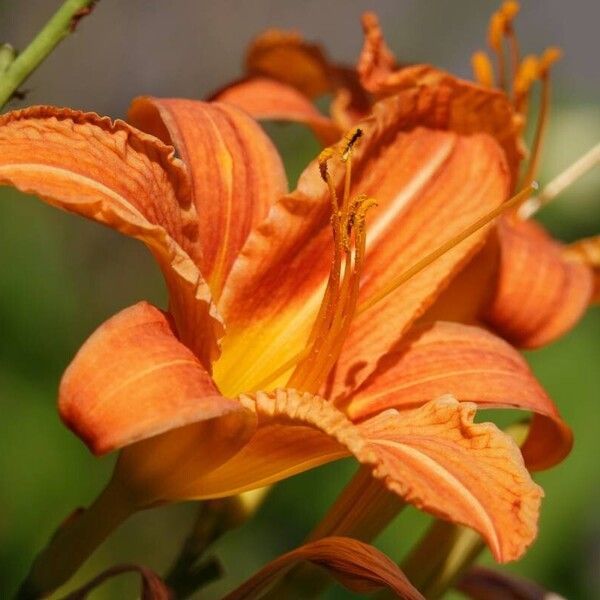
<instances>
[{"instance_id":1,"label":"bright green stem crossing the top left corner","mask_svg":"<svg viewBox=\"0 0 600 600\"><path fill-rule=\"evenodd\" d=\"M56 46L75 30L97 0L66 0L33 41L0 76L0 108Z\"/></svg>"}]
</instances>

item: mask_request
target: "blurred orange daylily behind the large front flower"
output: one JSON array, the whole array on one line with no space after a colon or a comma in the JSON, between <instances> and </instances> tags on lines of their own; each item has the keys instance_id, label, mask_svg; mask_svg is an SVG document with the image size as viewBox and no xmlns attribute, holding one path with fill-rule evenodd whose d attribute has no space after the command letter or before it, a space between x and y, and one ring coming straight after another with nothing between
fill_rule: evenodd
<instances>
[{"instance_id":1,"label":"blurred orange daylily behind the large front flower","mask_svg":"<svg viewBox=\"0 0 600 600\"><path fill-rule=\"evenodd\" d=\"M490 21L489 43L500 70L498 89L494 88L492 64L482 52L473 56L476 84L430 65L400 65L385 43L376 16L366 13L365 42L354 72L333 65L318 46L303 41L298 34L271 30L256 38L248 50L248 78L234 82L214 97L236 104L258 119L304 123L329 143L364 118L373 102L411 89L425 96L424 91L434 88L453 97L445 106L451 109L437 115L440 121L461 133L488 133L496 139L504 150L514 188L526 155L521 134L532 86L542 81L543 107L526 181L533 178L539 161L549 105L549 70L560 56L551 48L539 58L520 59L513 27L518 10L518 3L505 2ZM510 97L502 89L507 85L502 50L505 37L511 45ZM311 102L325 92L334 95L330 118ZM581 254L577 258L540 225L524 221L518 214L498 221L490 245L494 248L487 249L485 259L475 261L464 276L472 288L476 272L477 287L488 289L484 296L468 300L468 310L463 308L461 313L464 322L483 322L516 346L536 348L559 338L579 321L593 298L594 263L589 262L588 255L586 260ZM459 279L455 286L461 285ZM461 292L452 297L459 296ZM461 297L464 300L464 294ZM456 314L453 305L446 306L445 311L438 312L438 316L450 318Z\"/></svg>"}]
</instances>

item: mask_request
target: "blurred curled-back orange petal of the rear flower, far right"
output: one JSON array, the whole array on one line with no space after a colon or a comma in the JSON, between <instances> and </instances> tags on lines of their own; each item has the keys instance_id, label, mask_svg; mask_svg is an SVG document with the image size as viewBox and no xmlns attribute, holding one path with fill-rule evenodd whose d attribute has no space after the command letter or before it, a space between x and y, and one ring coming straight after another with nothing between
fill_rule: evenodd
<instances>
[{"instance_id":1,"label":"blurred curled-back orange petal of the rear flower, far right","mask_svg":"<svg viewBox=\"0 0 600 600\"><path fill-rule=\"evenodd\" d=\"M593 290L591 270L563 257L563 248L533 221L498 223L500 262L486 320L522 348L538 348L569 331Z\"/></svg>"}]
</instances>

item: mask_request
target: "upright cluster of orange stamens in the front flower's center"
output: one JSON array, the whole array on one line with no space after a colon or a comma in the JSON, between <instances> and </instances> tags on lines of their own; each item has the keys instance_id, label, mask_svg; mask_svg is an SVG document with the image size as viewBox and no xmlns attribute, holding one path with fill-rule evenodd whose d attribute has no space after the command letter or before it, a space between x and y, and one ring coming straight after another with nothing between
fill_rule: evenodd
<instances>
[{"instance_id":1,"label":"upright cluster of orange stamens in the front flower's center","mask_svg":"<svg viewBox=\"0 0 600 600\"><path fill-rule=\"evenodd\" d=\"M346 136L341 150L326 148L319 156L321 177L329 188L333 259L329 279L310 336L288 387L315 393L339 358L344 339L356 312L360 276L364 264L367 211L375 200L364 194L351 197L352 153L362 131ZM339 156L336 154L339 152ZM343 197L338 194L328 165L332 160L345 165Z\"/></svg>"}]
</instances>

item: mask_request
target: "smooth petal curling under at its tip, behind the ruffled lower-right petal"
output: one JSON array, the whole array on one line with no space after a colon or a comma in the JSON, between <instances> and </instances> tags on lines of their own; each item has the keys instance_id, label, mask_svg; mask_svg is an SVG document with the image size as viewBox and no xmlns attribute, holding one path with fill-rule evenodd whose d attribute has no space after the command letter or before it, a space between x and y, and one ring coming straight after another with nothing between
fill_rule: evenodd
<instances>
[{"instance_id":1,"label":"smooth petal curling under at its tip, behind the ruffled lower-right petal","mask_svg":"<svg viewBox=\"0 0 600 600\"><path fill-rule=\"evenodd\" d=\"M413 328L337 405L355 421L388 408L416 408L443 394L479 408L519 408L539 415L523 447L530 469L551 467L571 450L571 430L522 356L491 333L459 323Z\"/></svg>"}]
</instances>

